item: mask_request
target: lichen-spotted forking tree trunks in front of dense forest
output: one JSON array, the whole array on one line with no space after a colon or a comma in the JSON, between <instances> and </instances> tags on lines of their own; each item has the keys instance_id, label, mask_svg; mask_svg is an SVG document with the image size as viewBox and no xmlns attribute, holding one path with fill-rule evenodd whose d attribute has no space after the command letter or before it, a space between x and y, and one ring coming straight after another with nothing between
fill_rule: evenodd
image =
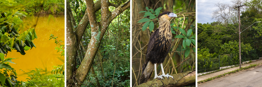
<instances>
[{"instance_id":1,"label":"lichen-spotted forking tree trunks in front of dense forest","mask_svg":"<svg viewBox=\"0 0 262 87\"><path fill-rule=\"evenodd\" d=\"M112 4L114 5L114 4ZM70 16L67 17L67 54L70 54L67 56L68 63L67 63L67 78L70 78L72 76L73 67L72 65L74 63L74 55L76 53L76 49L79 46L79 43L81 41L81 38L86 30L86 27L88 23L91 26L91 40L88 44L88 48L86 50L85 57L83 61L81 62L81 65L79 68L75 71L75 75L73 77L73 80L70 80L72 83L72 86L78 86L80 87L82 85L82 82L84 82L86 76L88 75L90 68L92 66L92 63L95 59L95 55L98 51L98 48L100 46L100 43L102 41L102 38L107 30L107 27L111 23L111 21L121 14L123 11L125 11L127 8L130 8L130 0L126 1L124 4L118 6L113 12L109 11L109 1L108 0L98 0L96 3L93 2L93 0L86 0L86 12L81 21L79 22L79 25L77 26L77 29L75 31L75 34L73 32L72 28L72 22L70 19ZM114 5L115 6L115 5ZM101 8L102 7L102 8ZM97 22L95 17L95 12L101 9L101 21ZM67 12L67 15L69 13ZM70 32L69 32L70 31ZM75 35L75 36L74 36ZM72 36L72 37L68 37ZM72 39L74 38L74 39ZM69 41L70 40L70 41ZM69 50L70 49L70 50ZM70 65L71 64L71 65ZM75 82L74 82L75 81Z\"/></svg>"}]
</instances>

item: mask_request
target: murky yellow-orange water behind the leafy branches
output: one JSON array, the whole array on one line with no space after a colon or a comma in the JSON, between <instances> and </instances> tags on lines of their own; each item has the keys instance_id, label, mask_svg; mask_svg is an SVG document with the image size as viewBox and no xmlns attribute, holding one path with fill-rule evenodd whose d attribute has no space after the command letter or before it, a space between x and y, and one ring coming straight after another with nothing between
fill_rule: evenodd
<instances>
[{"instance_id":1,"label":"murky yellow-orange water behind the leafy branches","mask_svg":"<svg viewBox=\"0 0 262 87\"><path fill-rule=\"evenodd\" d=\"M35 18L36 17L37 16L35 16ZM35 27L38 38L33 40L36 48L33 47L31 50L25 51L25 55L21 55L20 52L16 52L16 50L8 52L6 58L18 58L12 60L16 64L10 64L18 74L17 80L26 81L26 78L29 78L23 71L29 72L31 70L36 70L35 68L42 68L47 70L50 74L50 71L53 69L52 66L63 64L63 61L58 59L58 57L60 58L61 56L61 52L57 53L57 50L54 50L56 44L54 40L49 40L49 36L53 34L55 37L58 37L58 40L65 41L64 15L54 16L54 20L51 19L48 23L48 15L39 16ZM36 23L35 21L24 22ZM63 56L62 59L64 59Z\"/></svg>"}]
</instances>

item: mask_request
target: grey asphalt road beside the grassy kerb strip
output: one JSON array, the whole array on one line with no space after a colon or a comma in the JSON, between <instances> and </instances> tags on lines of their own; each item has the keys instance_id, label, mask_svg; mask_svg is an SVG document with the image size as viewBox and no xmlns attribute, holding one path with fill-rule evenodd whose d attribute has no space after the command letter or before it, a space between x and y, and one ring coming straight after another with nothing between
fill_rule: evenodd
<instances>
[{"instance_id":1,"label":"grey asphalt road beside the grassy kerb strip","mask_svg":"<svg viewBox=\"0 0 262 87\"><path fill-rule=\"evenodd\" d=\"M262 87L262 65L215 79L197 87Z\"/></svg>"}]
</instances>

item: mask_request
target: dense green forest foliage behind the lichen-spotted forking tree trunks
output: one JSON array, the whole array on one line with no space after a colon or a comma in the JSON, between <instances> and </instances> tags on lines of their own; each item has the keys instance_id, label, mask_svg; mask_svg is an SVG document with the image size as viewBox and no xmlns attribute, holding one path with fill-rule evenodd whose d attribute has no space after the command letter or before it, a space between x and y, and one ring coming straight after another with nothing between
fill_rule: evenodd
<instances>
[{"instance_id":1,"label":"dense green forest foliage behind the lichen-spotted forking tree trunks","mask_svg":"<svg viewBox=\"0 0 262 87\"><path fill-rule=\"evenodd\" d=\"M97 0L96 0L97 1ZM96 2L94 1L94 2ZM84 0L69 0L72 14L76 25L81 23L86 11ZM118 3L117 0L109 0L110 3ZM116 7L109 6L109 10L115 10ZM101 19L101 9L95 12L97 21ZM77 26L73 26L76 28ZM91 43L91 26L87 29L77 48L75 70L79 68L85 58L88 44ZM114 77L113 77L114 76ZM75 84L74 84L75 85ZM105 35L102 38L98 52L93 61L91 72L86 77L81 87L128 87L130 86L130 9L128 8L119 14L108 26Z\"/></svg>"}]
</instances>

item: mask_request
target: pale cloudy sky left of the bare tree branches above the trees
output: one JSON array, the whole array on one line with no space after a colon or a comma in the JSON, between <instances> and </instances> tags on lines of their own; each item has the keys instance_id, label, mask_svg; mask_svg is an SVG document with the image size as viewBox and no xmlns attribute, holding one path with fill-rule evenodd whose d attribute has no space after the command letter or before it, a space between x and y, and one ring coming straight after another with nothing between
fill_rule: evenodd
<instances>
[{"instance_id":1,"label":"pale cloudy sky left of the bare tree branches above the trees","mask_svg":"<svg viewBox=\"0 0 262 87\"><path fill-rule=\"evenodd\" d=\"M204 3L200 3L204 2ZM231 3L231 0L197 0L197 23L211 23L212 12L218 7L215 3Z\"/></svg>"}]
</instances>

